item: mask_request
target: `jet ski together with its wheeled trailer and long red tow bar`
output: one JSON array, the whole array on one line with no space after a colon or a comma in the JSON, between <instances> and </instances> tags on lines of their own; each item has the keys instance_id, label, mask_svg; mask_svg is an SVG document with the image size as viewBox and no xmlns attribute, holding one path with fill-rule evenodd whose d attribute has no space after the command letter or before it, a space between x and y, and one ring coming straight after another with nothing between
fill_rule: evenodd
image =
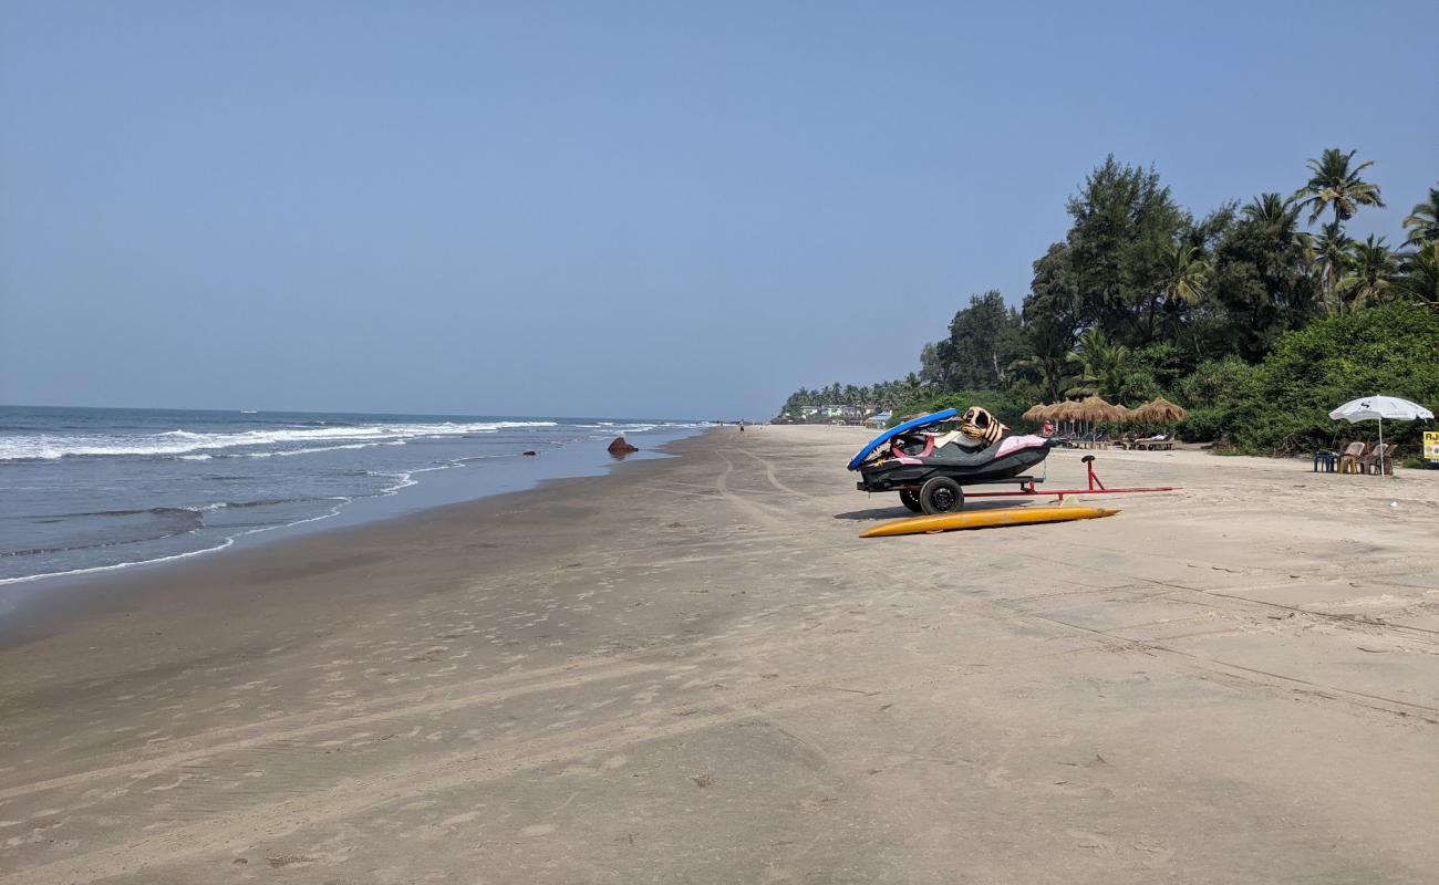
<instances>
[{"instance_id":1,"label":"jet ski together with its wheeled trailer and long red tow bar","mask_svg":"<svg viewBox=\"0 0 1439 885\"><path fill-rule=\"evenodd\" d=\"M966 452L954 442L935 445L927 429L954 420L958 413L945 409L885 430L849 462L861 475L862 492L899 492L899 501L917 514L953 514L964 508L966 498L1056 498L1069 495L1127 495L1137 492L1173 492L1179 486L1108 488L1094 472L1094 455L1084 456L1085 488L1042 489L1043 476L1025 471L1049 456L1059 440L1042 436L1006 436L981 450ZM888 443L888 449L884 446ZM1017 485L1017 491L967 491L977 485Z\"/></svg>"}]
</instances>

